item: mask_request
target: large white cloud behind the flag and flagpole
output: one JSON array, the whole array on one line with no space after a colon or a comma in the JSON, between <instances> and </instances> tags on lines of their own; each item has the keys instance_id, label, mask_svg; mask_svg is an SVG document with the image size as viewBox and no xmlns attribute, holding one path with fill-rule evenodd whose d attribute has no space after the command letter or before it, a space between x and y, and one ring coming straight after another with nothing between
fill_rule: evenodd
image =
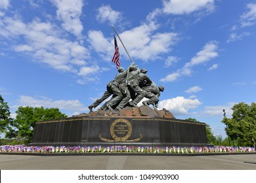
<instances>
[{"instance_id":1,"label":"large white cloud behind the flag and flagpole","mask_svg":"<svg viewBox=\"0 0 256 183\"><path fill-rule=\"evenodd\" d=\"M152 22L139 25L131 30L119 33L119 35L133 58L148 61L156 59L162 53L170 52L171 46L177 41L177 33L154 34L156 29L158 29L158 25ZM96 52L102 54L104 59L112 57L114 52L113 40L112 37L110 39L104 37L101 31L91 30L88 33L88 41L91 46ZM125 53L122 46L119 46L119 52Z\"/></svg>"}]
</instances>

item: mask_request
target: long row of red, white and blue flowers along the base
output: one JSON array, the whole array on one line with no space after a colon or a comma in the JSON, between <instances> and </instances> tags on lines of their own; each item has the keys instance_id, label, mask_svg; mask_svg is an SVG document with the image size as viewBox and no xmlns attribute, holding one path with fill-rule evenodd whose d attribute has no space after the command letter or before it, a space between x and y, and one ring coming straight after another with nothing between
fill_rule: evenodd
<instances>
[{"instance_id":1,"label":"long row of red, white and blue flowers along the base","mask_svg":"<svg viewBox=\"0 0 256 183\"><path fill-rule=\"evenodd\" d=\"M213 146L213 147L177 147L164 146L160 148L152 146L24 146L5 145L0 146L0 152L20 153L238 153L255 152L251 147Z\"/></svg>"}]
</instances>

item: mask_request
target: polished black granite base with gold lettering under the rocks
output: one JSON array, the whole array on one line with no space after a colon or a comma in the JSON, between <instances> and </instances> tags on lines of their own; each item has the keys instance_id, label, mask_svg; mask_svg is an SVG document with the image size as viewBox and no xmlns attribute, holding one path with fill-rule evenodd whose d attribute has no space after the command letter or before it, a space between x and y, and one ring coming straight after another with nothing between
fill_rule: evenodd
<instances>
[{"instance_id":1,"label":"polished black granite base with gold lettering under the rocks","mask_svg":"<svg viewBox=\"0 0 256 183\"><path fill-rule=\"evenodd\" d=\"M37 122L33 146L209 146L205 124L175 118L76 117Z\"/></svg>"}]
</instances>

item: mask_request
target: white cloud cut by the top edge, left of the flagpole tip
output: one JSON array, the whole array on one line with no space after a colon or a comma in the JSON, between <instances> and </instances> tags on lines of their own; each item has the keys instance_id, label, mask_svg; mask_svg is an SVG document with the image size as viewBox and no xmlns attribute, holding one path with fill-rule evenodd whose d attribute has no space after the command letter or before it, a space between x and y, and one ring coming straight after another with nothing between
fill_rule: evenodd
<instances>
[{"instance_id":1,"label":"white cloud cut by the top edge, left of the flagpole tip","mask_svg":"<svg viewBox=\"0 0 256 183\"><path fill-rule=\"evenodd\" d=\"M63 21L62 27L80 37L83 31L83 24L79 17L82 13L82 0L51 0L57 7L57 17Z\"/></svg>"}]
</instances>

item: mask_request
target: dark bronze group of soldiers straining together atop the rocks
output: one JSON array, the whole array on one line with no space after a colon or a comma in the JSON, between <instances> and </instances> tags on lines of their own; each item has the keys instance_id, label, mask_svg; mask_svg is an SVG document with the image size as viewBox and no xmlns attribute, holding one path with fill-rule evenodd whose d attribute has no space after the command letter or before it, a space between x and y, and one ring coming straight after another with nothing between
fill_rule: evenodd
<instances>
[{"instance_id":1,"label":"dark bronze group of soldiers straining together atop the rocks","mask_svg":"<svg viewBox=\"0 0 256 183\"><path fill-rule=\"evenodd\" d=\"M136 107L144 97L148 100L143 101L143 105L153 105L154 108L158 108L160 92L163 92L164 88L157 86L148 77L146 69L139 69L135 63L131 63L127 70L119 67L118 72L114 80L108 82L106 92L102 97L89 105L90 112L93 112L93 108L96 108L111 95L112 98L98 110L121 110L127 106Z\"/></svg>"}]
</instances>

